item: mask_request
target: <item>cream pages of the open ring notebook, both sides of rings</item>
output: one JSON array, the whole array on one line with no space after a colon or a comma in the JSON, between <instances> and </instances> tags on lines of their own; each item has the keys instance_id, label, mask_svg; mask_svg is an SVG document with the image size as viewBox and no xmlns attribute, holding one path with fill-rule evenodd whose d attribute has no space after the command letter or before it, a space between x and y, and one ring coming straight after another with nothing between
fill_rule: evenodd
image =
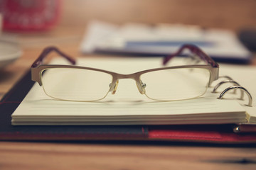
<instances>
[{"instance_id":1,"label":"cream pages of the open ring notebook, both sides of rings","mask_svg":"<svg viewBox=\"0 0 256 170\"><path fill-rule=\"evenodd\" d=\"M65 61L56 59L51 64L65 64ZM183 64L182 58L171 61L171 65L178 64ZM78 65L129 74L143 69L161 67L161 59L83 58L78 60ZM241 81L241 86L245 86L248 91L252 91L252 96L255 96L256 79L253 75L256 74L256 68L239 67L220 65L220 75L227 74L236 81ZM245 74L248 77L244 77ZM247 107L244 106L247 101L234 100L239 98L239 91L236 94L228 94L225 96L226 99L220 100L218 99L219 93L211 93L214 85L201 98L160 102L152 101L139 94L133 80L122 79L119 81L117 93L114 95L108 94L102 101L75 102L58 101L50 98L46 96L41 86L35 84L11 115L12 124L176 125L256 123L255 103L253 103L253 107ZM247 96L245 96L245 99L247 99Z\"/></svg>"}]
</instances>

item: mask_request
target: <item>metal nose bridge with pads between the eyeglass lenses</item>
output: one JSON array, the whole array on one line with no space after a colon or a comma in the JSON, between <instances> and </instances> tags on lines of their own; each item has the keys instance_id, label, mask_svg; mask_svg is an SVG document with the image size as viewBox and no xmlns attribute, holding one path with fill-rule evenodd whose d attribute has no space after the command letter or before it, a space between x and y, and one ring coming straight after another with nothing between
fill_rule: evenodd
<instances>
[{"instance_id":1,"label":"metal nose bridge with pads between the eyeglass lenses","mask_svg":"<svg viewBox=\"0 0 256 170\"><path fill-rule=\"evenodd\" d=\"M136 82L137 89L139 90L139 93L145 94L146 84L144 84L139 77L140 77L140 75L138 75L138 74L114 74L113 81L110 84L110 91L112 91L112 94L116 93L117 86L119 84L119 79L133 79Z\"/></svg>"}]
</instances>

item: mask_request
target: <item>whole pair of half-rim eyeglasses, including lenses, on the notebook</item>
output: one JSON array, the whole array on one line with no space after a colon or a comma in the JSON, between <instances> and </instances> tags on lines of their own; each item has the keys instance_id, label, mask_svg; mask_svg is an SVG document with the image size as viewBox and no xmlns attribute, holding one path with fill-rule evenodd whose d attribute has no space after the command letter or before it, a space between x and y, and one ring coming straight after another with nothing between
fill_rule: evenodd
<instances>
[{"instance_id":1,"label":"whole pair of half-rim eyeglasses, including lenses, on the notebook","mask_svg":"<svg viewBox=\"0 0 256 170\"><path fill-rule=\"evenodd\" d=\"M31 66L32 80L43 86L45 93L64 101L98 101L109 92L115 94L119 79L134 79L140 94L156 101L179 101L198 98L218 79L218 64L195 45L183 45L171 58L190 50L206 64L147 69L132 74L118 74L103 69L75 66L75 60L56 47L46 47ZM57 52L72 65L43 64L50 53Z\"/></svg>"}]
</instances>

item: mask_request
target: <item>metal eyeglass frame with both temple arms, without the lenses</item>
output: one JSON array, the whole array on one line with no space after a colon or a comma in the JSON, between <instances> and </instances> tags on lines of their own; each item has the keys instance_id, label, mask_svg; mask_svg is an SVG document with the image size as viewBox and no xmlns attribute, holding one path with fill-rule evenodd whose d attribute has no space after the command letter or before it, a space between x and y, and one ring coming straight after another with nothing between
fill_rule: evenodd
<instances>
[{"instance_id":1,"label":"metal eyeglass frame with both temple arms, without the lenses","mask_svg":"<svg viewBox=\"0 0 256 170\"><path fill-rule=\"evenodd\" d=\"M112 82L110 84L110 90L108 92L112 92L112 94L115 94L115 92L117 91L117 86L118 86L119 79L134 79L134 81L136 81L139 93L140 94L146 94L144 83L140 79L142 74L145 74L145 73L148 73L148 72L155 72L155 71L159 71L159 70L165 70L165 69L201 68L201 69L208 69L209 70L210 79L209 79L209 82L208 82L208 86L210 86L210 84L213 81L218 79L219 65L212 58L210 58L208 55L206 55L206 53L203 52L196 45L183 45L174 54L171 54L171 55L168 55L168 56L164 57L163 64L166 65L167 62L169 62L169 60L171 60L171 58L173 58L175 56L178 56L178 55L181 55L181 53L185 49L188 49L192 53L194 53L195 55L198 55L198 57L200 57L201 60L206 62L206 65L192 64L192 65L183 65L183 66L160 67L160 68L155 68L155 69L146 69L146 70L143 70L143 71L140 71L140 72L135 72L135 73L132 73L132 74L119 74L119 73L110 72L110 71L107 71L107 70L104 70L104 69L75 66L75 63L76 63L75 60L72 57L70 57L69 55L66 55L65 53L58 50L57 47L46 47L43 50L43 52L41 52L41 55L39 55L39 57L31 65L31 80L38 82L38 84L40 86L42 86L43 84L42 84L41 76L42 76L43 71L46 70L46 69L52 69L52 68L87 69L87 70L92 70L92 71L96 71L96 72L105 72L106 74L110 74L112 76ZM46 58L46 56L50 52L57 52L61 57L64 57L66 60L68 60L73 65L43 64L43 60ZM108 92L107 92L107 94L108 94ZM107 96L107 94L105 96ZM103 98L105 98L105 96L100 98L100 99L93 100L93 101L102 100ZM149 96L147 96L147 97L149 97ZM151 98L151 99L156 100L154 98ZM158 101L161 101L161 100L158 100Z\"/></svg>"}]
</instances>

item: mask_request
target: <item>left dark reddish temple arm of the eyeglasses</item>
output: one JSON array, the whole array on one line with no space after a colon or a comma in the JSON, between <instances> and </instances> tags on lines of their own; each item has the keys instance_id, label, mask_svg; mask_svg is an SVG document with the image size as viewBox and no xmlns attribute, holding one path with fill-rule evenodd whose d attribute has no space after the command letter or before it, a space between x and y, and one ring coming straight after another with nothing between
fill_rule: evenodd
<instances>
[{"instance_id":1,"label":"left dark reddish temple arm of the eyeglasses","mask_svg":"<svg viewBox=\"0 0 256 170\"><path fill-rule=\"evenodd\" d=\"M41 65L43 63L43 59L46 58L46 56L50 53L50 52L57 52L61 57L64 57L65 59L67 59L71 64L75 64L75 60L66 55L65 53L61 52L60 50L58 50L57 47L46 47L43 52L41 53L41 55L39 55L38 59L36 59L35 62L33 62L33 64L31 65L31 67L38 67L38 65Z\"/></svg>"}]
</instances>

